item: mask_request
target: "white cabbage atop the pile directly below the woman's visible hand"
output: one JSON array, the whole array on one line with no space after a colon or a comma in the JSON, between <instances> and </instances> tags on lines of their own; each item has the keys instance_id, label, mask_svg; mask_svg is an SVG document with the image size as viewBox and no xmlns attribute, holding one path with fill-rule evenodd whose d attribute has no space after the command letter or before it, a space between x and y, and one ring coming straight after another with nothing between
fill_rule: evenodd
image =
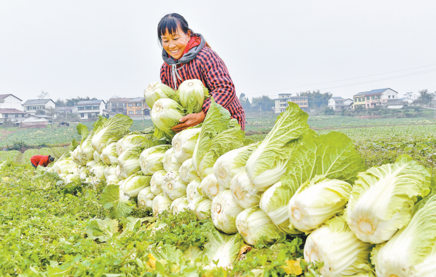
<instances>
[{"instance_id":1,"label":"white cabbage atop the pile directly below the woman's visible hand","mask_svg":"<svg viewBox=\"0 0 436 277\"><path fill-rule=\"evenodd\" d=\"M172 149L180 163L192 158L200 130L201 128L185 129L172 138Z\"/></svg>"}]
</instances>

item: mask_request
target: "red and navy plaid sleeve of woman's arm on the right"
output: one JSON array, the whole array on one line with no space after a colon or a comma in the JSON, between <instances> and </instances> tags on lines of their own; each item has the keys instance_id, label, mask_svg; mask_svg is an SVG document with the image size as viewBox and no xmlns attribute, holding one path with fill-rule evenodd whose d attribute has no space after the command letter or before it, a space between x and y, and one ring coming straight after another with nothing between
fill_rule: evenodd
<instances>
[{"instance_id":1,"label":"red and navy plaid sleeve of woman's arm on the right","mask_svg":"<svg viewBox=\"0 0 436 277\"><path fill-rule=\"evenodd\" d=\"M209 94L213 96L216 103L227 109L236 97L236 92L226 65L214 51L210 51L208 59L203 62L202 70L210 88ZM202 110L205 114L209 110L210 103L209 98L203 103Z\"/></svg>"}]
</instances>

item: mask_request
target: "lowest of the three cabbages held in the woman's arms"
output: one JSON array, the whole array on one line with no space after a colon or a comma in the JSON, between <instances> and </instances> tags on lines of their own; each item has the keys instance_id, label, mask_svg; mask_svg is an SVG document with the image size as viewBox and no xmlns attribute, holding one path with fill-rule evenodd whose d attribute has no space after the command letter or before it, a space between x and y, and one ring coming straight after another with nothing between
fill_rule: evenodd
<instances>
[{"instance_id":1,"label":"lowest of the three cabbages held in the woman's arms","mask_svg":"<svg viewBox=\"0 0 436 277\"><path fill-rule=\"evenodd\" d=\"M176 101L167 98L157 100L150 112L151 121L155 126L154 135L156 137L165 136L171 140L176 134L171 127L179 124L179 119L185 115L186 110Z\"/></svg>"}]
</instances>

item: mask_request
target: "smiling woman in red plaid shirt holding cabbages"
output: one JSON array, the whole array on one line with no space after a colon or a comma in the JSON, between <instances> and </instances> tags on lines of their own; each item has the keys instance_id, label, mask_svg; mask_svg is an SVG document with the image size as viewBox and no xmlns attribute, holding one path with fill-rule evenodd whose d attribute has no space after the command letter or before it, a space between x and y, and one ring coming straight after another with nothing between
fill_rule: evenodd
<instances>
[{"instance_id":1,"label":"smiling woman in red plaid shirt holding cabbages","mask_svg":"<svg viewBox=\"0 0 436 277\"><path fill-rule=\"evenodd\" d=\"M235 86L227 67L203 36L189 29L188 22L179 14L164 16L157 26L157 36L163 47L161 82L177 90L185 80L201 80L215 102L226 108L231 117L238 120L241 129L245 130L245 112L236 97ZM200 113L181 118L181 123L172 127L172 130L179 132L203 122L210 101L207 99L204 102Z\"/></svg>"}]
</instances>

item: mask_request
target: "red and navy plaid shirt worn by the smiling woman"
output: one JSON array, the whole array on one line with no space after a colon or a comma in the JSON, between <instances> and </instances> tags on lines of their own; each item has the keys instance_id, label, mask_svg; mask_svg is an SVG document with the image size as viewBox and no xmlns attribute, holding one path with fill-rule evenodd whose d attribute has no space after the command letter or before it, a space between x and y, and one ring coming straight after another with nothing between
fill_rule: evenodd
<instances>
[{"instance_id":1,"label":"red and navy plaid shirt worn by the smiling woman","mask_svg":"<svg viewBox=\"0 0 436 277\"><path fill-rule=\"evenodd\" d=\"M241 129L245 130L245 112L241 102L236 97L235 86L224 61L218 54L207 46L191 61L177 67L182 80L177 78L177 88L185 80L198 79L209 90L215 102L227 109L232 118L238 120ZM165 62L160 67L160 80L162 84L177 90L171 77L171 67ZM206 114L210 106L210 99L203 104L203 112Z\"/></svg>"}]
</instances>

